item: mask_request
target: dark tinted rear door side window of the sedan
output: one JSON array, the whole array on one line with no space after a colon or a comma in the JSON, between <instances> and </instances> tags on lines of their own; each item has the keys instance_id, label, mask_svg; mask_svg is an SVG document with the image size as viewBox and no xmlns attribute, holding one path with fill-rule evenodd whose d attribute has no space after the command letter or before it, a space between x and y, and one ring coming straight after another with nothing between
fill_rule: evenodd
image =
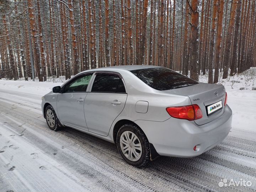
<instances>
[{"instance_id":1,"label":"dark tinted rear door side window of the sedan","mask_svg":"<svg viewBox=\"0 0 256 192\"><path fill-rule=\"evenodd\" d=\"M112 74L96 74L91 92L126 93L121 78Z\"/></svg>"}]
</instances>

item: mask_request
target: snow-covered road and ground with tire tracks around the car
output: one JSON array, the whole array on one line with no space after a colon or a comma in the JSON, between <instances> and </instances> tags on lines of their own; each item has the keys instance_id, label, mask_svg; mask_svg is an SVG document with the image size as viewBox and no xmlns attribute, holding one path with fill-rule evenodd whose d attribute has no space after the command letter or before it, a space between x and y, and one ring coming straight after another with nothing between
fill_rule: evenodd
<instances>
[{"instance_id":1,"label":"snow-covered road and ground with tire tracks around the car","mask_svg":"<svg viewBox=\"0 0 256 192\"><path fill-rule=\"evenodd\" d=\"M160 157L142 169L126 164L114 144L74 129L47 127L41 97L63 77L0 80L0 192L255 191L255 77L252 68L221 82L233 110L233 128L222 143L196 158ZM219 187L224 178L252 185Z\"/></svg>"}]
</instances>

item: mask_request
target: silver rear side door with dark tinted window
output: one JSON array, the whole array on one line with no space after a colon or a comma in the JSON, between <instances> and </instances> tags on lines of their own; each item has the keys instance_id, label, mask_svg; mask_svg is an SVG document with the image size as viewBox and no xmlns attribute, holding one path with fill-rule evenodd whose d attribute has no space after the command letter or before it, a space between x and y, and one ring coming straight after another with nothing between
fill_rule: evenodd
<instances>
[{"instance_id":1,"label":"silver rear side door with dark tinted window","mask_svg":"<svg viewBox=\"0 0 256 192\"><path fill-rule=\"evenodd\" d=\"M90 132L107 136L114 119L123 111L127 93L117 73L96 73L84 103Z\"/></svg>"}]
</instances>

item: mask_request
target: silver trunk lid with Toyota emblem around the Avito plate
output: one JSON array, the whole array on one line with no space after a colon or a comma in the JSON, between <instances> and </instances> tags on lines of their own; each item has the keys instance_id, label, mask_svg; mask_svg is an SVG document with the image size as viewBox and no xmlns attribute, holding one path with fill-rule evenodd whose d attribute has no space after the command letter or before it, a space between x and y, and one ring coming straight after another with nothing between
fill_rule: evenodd
<instances>
[{"instance_id":1,"label":"silver trunk lid with Toyota emblem around the Avito plate","mask_svg":"<svg viewBox=\"0 0 256 192\"><path fill-rule=\"evenodd\" d=\"M225 88L223 85L199 83L179 89L166 90L163 92L188 96L192 104L197 104L203 113L203 117L201 119L194 121L198 125L203 125L213 121L221 116L225 110ZM216 107L217 105L220 105L220 103L222 107L216 109L214 108L213 112L212 110L210 111L207 109L207 106L209 106L210 109L210 107ZM208 114L208 111L210 114Z\"/></svg>"}]
</instances>

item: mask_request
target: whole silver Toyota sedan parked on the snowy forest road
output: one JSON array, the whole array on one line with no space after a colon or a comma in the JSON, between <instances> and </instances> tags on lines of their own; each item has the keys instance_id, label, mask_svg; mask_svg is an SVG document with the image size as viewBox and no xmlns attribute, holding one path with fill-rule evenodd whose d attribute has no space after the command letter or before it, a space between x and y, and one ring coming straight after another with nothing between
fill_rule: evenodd
<instances>
[{"instance_id":1,"label":"whole silver Toyota sedan parked on the snowy forest road","mask_svg":"<svg viewBox=\"0 0 256 192\"><path fill-rule=\"evenodd\" d=\"M232 121L223 85L149 65L83 71L43 96L42 112L50 129L116 143L138 167L159 155L198 156L222 142Z\"/></svg>"}]
</instances>

